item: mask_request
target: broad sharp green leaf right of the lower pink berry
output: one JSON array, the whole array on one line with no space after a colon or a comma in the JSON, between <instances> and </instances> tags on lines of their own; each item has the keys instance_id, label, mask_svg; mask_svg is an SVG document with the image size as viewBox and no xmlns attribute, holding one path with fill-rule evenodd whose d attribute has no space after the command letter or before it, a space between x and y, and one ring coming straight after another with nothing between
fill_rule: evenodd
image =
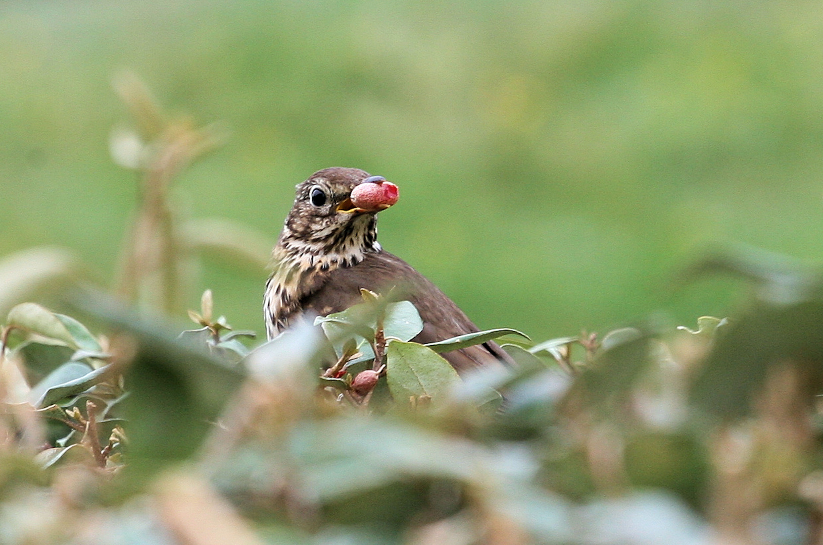
<instances>
[{"instance_id":1,"label":"broad sharp green leaf right of the lower pink berry","mask_svg":"<svg viewBox=\"0 0 823 545\"><path fill-rule=\"evenodd\" d=\"M460 380L449 362L423 344L389 340L386 354L388 389L400 403L412 395L436 402Z\"/></svg>"}]
</instances>

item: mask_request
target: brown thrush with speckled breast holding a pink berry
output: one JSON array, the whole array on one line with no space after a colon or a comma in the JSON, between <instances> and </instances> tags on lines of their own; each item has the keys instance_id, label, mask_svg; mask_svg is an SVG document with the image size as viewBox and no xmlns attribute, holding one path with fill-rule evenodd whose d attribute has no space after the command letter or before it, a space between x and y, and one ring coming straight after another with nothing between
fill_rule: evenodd
<instances>
[{"instance_id":1,"label":"brown thrush with speckled breast holding a pink berry","mask_svg":"<svg viewBox=\"0 0 823 545\"><path fill-rule=\"evenodd\" d=\"M361 289L387 293L393 287L421 316L423 329L413 342L478 331L435 284L380 246L377 214L397 200L397 186L361 169L323 169L297 184L265 287L268 339L306 316L327 316L362 303ZM459 374L513 363L491 341L441 355Z\"/></svg>"}]
</instances>

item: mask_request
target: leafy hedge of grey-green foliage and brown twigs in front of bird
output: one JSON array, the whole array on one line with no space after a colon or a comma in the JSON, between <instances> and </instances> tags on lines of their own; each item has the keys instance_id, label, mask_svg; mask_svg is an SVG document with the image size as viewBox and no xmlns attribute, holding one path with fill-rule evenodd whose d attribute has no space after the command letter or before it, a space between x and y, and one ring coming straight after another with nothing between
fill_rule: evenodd
<instances>
[{"instance_id":1,"label":"leafy hedge of grey-green foliage and brown twigs in front of bird","mask_svg":"<svg viewBox=\"0 0 823 545\"><path fill-rule=\"evenodd\" d=\"M619 543L632 524L756 538L768 515L801 536L823 505L823 303L813 277L792 284L795 298L760 290L732 320L537 343L499 329L417 344L415 308L365 292L250 351L211 293L184 335L101 296L80 306L109 337L23 303L2 336L0 497L32 517L32 494L63 497L74 518L40 523L41 541L5 511L0 528L10 543L101 528L153 543ZM439 355L490 339L515 367L458 376Z\"/></svg>"}]
</instances>

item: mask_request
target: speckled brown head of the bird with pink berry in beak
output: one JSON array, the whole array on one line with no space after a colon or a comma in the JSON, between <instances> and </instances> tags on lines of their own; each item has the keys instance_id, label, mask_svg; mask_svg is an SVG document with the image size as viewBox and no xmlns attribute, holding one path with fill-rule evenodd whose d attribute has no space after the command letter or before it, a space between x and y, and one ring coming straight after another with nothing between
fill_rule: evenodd
<instances>
[{"instance_id":1,"label":"speckled brown head of the bird with pink berry in beak","mask_svg":"<svg viewBox=\"0 0 823 545\"><path fill-rule=\"evenodd\" d=\"M332 167L297 185L279 246L316 255L379 250L375 215L398 201L398 187L360 169Z\"/></svg>"}]
</instances>

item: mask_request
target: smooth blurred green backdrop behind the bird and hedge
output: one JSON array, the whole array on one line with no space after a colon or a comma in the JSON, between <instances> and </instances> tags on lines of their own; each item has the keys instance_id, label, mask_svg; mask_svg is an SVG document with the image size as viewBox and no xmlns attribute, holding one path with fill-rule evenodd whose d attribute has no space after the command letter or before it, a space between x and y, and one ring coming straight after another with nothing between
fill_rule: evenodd
<instances>
[{"instance_id":1,"label":"smooth blurred green backdrop behind the bird and hedge","mask_svg":"<svg viewBox=\"0 0 823 545\"><path fill-rule=\"evenodd\" d=\"M819 2L0 2L0 256L76 251L114 275L137 201L111 161L111 81L230 139L189 169L195 217L272 240L332 165L401 189L380 239L482 328L536 339L663 310L733 312L740 286L672 293L707 242L818 261ZM214 257L200 289L263 330L266 273Z\"/></svg>"}]
</instances>

